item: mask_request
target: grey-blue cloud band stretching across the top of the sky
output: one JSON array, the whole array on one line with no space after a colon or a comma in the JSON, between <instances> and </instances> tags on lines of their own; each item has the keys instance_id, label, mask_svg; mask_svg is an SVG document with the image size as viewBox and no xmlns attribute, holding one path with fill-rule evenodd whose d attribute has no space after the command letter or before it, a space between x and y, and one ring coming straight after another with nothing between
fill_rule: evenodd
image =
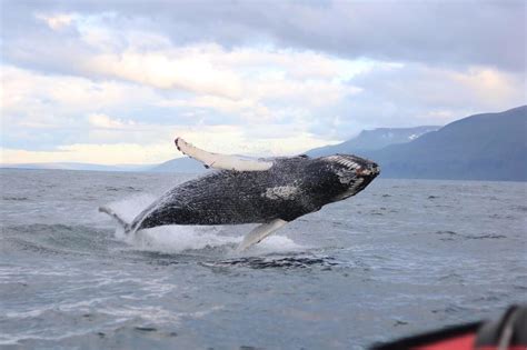
<instances>
[{"instance_id":1,"label":"grey-blue cloud band stretching across the top of the sky","mask_svg":"<svg viewBox=\"0 0 527 350\"><path fill-rule=\"evenodd\" d=\"M29 6L30 3L30 6ZM7 3L10 21L28 12L95 17L111 13L115 29L168 33L176 46L217 42L225 48L272 44L381 61L490 66L524 70L525 1L212 2L54 1ZM291 16L295 13L295 16ZM19 33L20 34L20 33Z\"/></svg>"}]
</instances>

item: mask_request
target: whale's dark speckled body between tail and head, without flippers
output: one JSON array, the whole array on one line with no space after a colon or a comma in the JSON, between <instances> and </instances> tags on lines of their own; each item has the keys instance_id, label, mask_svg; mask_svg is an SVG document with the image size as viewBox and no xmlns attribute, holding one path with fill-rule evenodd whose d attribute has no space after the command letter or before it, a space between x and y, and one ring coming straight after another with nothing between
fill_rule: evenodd
<instances>
[{"instance_id":1,"label":"whale's dark speckled body between tail and head, without flippers","mask_svg":"<svg viewBox=\"0 0 527 350\"><path fill-rule=\"evenodd\" d=\"M277 159L269 170L222 170L177 186L139 214L132 227L291 221L320 209L346 188L321 159Z\"/></svg>"}]
</instances>

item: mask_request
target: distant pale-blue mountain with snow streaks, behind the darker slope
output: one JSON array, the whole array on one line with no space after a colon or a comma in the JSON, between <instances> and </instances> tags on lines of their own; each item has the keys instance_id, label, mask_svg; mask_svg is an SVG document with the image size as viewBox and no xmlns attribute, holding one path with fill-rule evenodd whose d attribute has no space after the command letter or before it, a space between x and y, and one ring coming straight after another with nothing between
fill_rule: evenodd
<instances>
[{"instance_id":1,"label":"distant pale-blue mountain with snow streaks, behind the darker slope","mask_svg":"<svg viewBox=\"0 0 527 350\"><path fill-rule=\"evenodd\" d=\"M366 150L377 150L389 144L410 142L422 134L435 131L441 127L416 128L378 128L362 130L357 137L342 143L325 146L307 151L308 156L321 157L335 153L357 153Z\"/></svg>"}]
</instances>

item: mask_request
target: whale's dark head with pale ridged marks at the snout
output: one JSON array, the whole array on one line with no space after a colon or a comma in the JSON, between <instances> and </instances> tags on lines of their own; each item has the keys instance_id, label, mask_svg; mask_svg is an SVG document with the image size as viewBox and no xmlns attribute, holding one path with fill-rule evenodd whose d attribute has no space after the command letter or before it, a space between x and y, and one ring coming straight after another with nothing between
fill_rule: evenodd
<instances>
[{"instance_id":1,"label":"whale's dark head with pale ridged marks at the snout","mask_svg":"<svg viewBox=\"0 0 527 350\"><path fill-rule=\"evenodd\" d=\"M380 172L379 166L368 159L351 154L335 154L321 158L338 181L334 200L342 200L364 190Z\"/></svg>"}]
</instances>

